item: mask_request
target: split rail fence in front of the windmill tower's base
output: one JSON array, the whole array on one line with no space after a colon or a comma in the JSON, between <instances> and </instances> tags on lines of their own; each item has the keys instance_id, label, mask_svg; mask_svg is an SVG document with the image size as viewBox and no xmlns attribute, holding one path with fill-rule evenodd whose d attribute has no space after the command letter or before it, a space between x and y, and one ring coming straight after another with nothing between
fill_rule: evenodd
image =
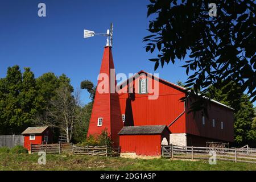
<instances>
[{"instance_id":1,"label":"split rail fence in front of the windmill tower's base","mask_svg":"<svg viewBox=\"0 0 256 182\"><path fill-rule=\"evenodd\" d=\"M72 143L31 144L31 153L45 151L47 154L69 153L74 155L118 156L120 147L75 146Z\"/></svg>"}]
</instances>

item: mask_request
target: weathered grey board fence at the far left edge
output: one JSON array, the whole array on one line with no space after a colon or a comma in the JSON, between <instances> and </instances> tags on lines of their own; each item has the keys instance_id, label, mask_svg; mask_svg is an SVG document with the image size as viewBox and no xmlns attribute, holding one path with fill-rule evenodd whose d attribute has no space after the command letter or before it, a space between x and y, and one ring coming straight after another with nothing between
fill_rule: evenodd
<instances>
[{"instance_id":1,"label":"weathered grey board fence at the far left edge","mask_svg":"<svg viewBox=\"0 0 256 182\"><path fill-rule=\"evenodd\" d=\"M23 135L1 135L0 136L0 147L13 148L15 146L23 146L24 136Z\"/></svg>"}]
</instances>

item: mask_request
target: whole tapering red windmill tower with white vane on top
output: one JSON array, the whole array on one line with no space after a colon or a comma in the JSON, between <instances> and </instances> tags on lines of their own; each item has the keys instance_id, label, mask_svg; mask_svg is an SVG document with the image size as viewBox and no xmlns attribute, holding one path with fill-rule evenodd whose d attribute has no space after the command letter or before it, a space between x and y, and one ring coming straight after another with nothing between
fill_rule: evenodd
<instances>
[{"instance_id":1,"label":"whole tapering red windmill tower with white vane on top","mask_svg":"<svg viewBox=\"0 0 256 182\"><path fill-rule=\"evenodd\" d=\"M99 88L97 87L87 137L89 135L101 134L102 131L106 130L114 142L114 145L118 146L118 132L122 129L123 122L118 93L115 92L117 81L115 80L114 61L112 56L113 24L110 24L110 31L108 30L106 34L98 34L94 31L84 30L84 38L89 38L94 35L107 36L107 43L104 47L101 61L100 74L108 76L109 84L106 85L107 88L104 89L107 90L105 93L99 92ZM114 81L110 80L110 75L114 75ZM98 80L97 85L102 85L102 81L106 82L106 80ZM114 86L114 89L110 88L111 82L114 82L114 84L111 85L112 87Z\"/></svg>"}]
</instances>

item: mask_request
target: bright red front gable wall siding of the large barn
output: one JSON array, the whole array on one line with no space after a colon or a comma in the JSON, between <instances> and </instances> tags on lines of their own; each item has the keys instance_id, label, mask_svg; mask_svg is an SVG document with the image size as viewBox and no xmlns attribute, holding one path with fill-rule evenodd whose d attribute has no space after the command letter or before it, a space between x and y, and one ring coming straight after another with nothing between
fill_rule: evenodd
<instances>
[{"instance_id":1,"label":"bright red front gable wall siding of the large barn","mask_svg":"<svg viewBox=\"0 0 256 182\"><path fill-rule=\"evenodd\" d=\"M134 87L138 88L138 77L134 81ZM151 78L148 78L150 80ZM154 83L154 81L152 81ZM153 84L154 89L154 84ZM127 90L127 86L121 90ZM120 106L122 114L126 114L126 126L143 125L169 125L184 111L184 102L180 101L185 96L184 92L177 90L174 86L159 81L159 96L156 100L148 100L152 94L134 94L134 100L129 100L129 94L120 94ZM128 115L129 114L129 115ZM132 115L132 117L131 117ZM133 121L130 121L132 120ZM185 114L183 114L170 127L172 133L185 133Z\"/></svg>"}]
</instances>

